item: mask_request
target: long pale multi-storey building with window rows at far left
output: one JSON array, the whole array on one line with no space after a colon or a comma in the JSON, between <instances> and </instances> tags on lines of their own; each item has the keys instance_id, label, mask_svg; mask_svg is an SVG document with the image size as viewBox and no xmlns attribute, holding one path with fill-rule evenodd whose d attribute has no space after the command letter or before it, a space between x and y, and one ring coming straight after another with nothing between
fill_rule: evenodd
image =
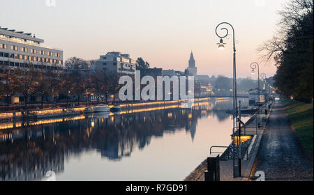
<instances>
[{"instance_id":1,"label":"long pale multi-storey building with window rows at far left","mask_svg":"<svg viewBox=\"0 0 314 195\"><path fill-rule=\"evenodd\" d=\"M62 49L40 45L44 40L31 33L0 27L0 72L10 68L62 70Z\"/></svg>"}]
</instances>

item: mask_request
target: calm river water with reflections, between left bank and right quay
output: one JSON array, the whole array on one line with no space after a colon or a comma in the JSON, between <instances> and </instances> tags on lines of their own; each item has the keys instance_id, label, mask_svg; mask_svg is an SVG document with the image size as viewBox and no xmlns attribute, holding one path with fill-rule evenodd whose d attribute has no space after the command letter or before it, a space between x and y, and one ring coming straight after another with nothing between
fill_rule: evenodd
<instances>
[{"instance_id":1,"label":"calm river water with reflections, between left bank and right quay","mask_svg":"<svg viewBox=\"0 0 314 195\"><path fill-rule=\"evenodd\" d=\"M242 99L242 104L248 100ZM0 180L184 180L228 146L232 99L42 120L0 131ZM248 117L243 118L247 120Z\"/></svg>"}]
</instances>

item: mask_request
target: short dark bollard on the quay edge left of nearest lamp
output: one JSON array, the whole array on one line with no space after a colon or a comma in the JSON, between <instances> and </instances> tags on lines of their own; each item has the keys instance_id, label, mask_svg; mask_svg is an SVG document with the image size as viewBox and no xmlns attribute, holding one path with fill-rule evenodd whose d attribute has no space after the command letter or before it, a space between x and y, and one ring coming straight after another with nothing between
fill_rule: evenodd
<instances>
[{"instance_id":1,"label":"short dark bollard on the quay edge left of nearest lamp","mask_svg":"<svg viewBox=\"0 0 314 195\"><path fill-rule=\"evenodd\" d=\"M220 181L219 155L217 157L207 158L207 171L205 172L205 181Z\"/></svg>"}]
</instances>

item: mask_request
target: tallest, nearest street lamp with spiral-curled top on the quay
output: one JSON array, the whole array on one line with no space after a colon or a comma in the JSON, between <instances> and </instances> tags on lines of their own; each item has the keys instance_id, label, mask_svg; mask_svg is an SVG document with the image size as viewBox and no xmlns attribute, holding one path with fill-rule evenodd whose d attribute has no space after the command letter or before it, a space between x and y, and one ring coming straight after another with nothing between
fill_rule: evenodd
<instances>
[{"instance_id":1,"label":"tallest, nearest street lamp with spiral-curled top on the quay","mask_svg":"<svg viewBox=\"0 0 314 195\"><path fill-rule=\"evenodd\" d=\"M232 128L232 149L233 149L233 176L234 178L241 176L241 168L240 168L240 160L238 158L237 164L235 163L235 148L234 148L234 132L237 130L237 66L236 66L236 49L235 49L235 40L234 40L234 28L231 24L227 22L221 22L216 26L216 36L220 38L218 43L218 49L225 48L225 43L223 43L223 38L227 37L229 34L229 31L226 27L223 27L222 25L230 26L232 29L232 38L233 38L233 111L232 111L232 118L233 118L233 128ZM223 31L223 34L218 33L218 27L222 26L220 31Z\"/></svg>"}]
</instances>

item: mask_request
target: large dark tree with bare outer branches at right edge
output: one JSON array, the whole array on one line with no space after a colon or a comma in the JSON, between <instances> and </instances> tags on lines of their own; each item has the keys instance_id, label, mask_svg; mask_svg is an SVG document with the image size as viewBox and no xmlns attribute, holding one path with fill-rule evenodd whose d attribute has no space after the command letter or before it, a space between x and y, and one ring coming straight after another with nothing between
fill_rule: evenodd
<instances>
[{"instance_id":1,"label":"large dark tree with bare outer branches at right edge","mask_svg":"<svg viewBox=\"0 0 314 195\"><path fill-rule=\"evenodd\" d=\"M279 12L274 38L257 50L274 59L278 92L303 102L313 100L313 1L293 0Z\"/></svg>"}]
</instances>

